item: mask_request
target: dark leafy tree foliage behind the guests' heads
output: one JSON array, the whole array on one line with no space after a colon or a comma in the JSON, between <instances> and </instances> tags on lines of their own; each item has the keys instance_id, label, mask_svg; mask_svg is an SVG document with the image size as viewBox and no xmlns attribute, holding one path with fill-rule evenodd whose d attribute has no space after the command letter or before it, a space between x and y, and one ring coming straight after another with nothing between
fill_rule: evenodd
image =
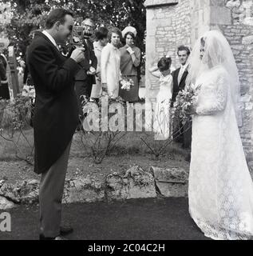
<instances>
[{"instance_id":1,"label":"dark leafy tree foliage behind the guests' heads","mask_svg":"<svg viewBox=\"0 0 253 256\"><path fill-rule=\"evenodd\" d=\"M97 26L117 26L121 30L128 25L135 26L136 45L144 52L144 0L0 0L0 4L1 2L10 2L14 13L10 25L5 29L11 44L17 47L18 54L25 54L30 31L43 28L46 15L57 7L72 10L77 22L89 16Z\"/></svg>"}]
</instances>

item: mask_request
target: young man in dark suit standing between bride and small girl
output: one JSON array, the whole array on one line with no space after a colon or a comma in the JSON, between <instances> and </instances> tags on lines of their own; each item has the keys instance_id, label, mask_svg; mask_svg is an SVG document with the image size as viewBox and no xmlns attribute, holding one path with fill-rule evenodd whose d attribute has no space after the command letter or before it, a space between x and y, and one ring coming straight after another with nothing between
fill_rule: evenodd
<instances>
[{"instance_id":1,"label":"young man in dark suit standing between bride and small girl","mask_svg":"<svg viewBox=\"0 0 253 256\"><path fill-rule=\"evenodd\" d=\"M188 77L188 58L191 51L187 46L180 46L177 49L177 55L180 59L180 68L172 72L173 78L173 92L172 92L172 105L176 101L176 96L180 90L184 90L185 82ZM192 123L187 122L183 127L181 122L173 124L173 134L175 134L176 142L183 142L184 148L191 147L192 144ZM180 134L176 131L180 130Z\"/></svg>"}]
</instances>

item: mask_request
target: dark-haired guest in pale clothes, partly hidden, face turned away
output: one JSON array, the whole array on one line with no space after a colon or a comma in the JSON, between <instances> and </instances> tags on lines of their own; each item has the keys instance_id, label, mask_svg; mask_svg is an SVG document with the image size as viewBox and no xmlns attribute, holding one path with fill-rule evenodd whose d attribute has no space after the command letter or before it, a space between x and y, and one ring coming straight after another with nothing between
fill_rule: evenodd
<instances>
[{"instance_id":1,"label":"dark-haired guest in pale clothes, partly hidden, face turned away","mask_svg":"<svg viewBox=\"0 0 253 256\"><path fill-rule=\"evenodd\" d=\"M99 98L102 94L101 85L101 52L108 42L108 29L105 26L101 26L95 32L96 41L93 42L94 52L97 57L97 71L96 71L96 83L93 84L93 90L91 92L91 98Z\"/></svg>"}]
</instances>

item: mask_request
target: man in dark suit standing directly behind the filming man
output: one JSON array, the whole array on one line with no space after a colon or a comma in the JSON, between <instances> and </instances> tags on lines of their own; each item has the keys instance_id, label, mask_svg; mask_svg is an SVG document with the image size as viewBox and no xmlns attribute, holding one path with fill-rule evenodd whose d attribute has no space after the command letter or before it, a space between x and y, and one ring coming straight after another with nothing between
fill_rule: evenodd
<instances>
[{"instance_id":1,"label":"man in dark suit standing directly behind the filming man","mask_svg":"<svg viewBox=\"0 0 253 256\"><path fill-rule=\"evenodd\" d=\"M94 52L93 42L90 41L90 37L93 34L94 22L90 18L85 18L81 22L81 26L84 29L83 46L85 47L85 61L81 62L81 70L79 70L75 76L75 90L77 93L79 115L82 118L82 104L81 102L85 98L90 98L90 94L93 88L93 84L96 83L96 70L97 70L97 57Z\"/></svg>"}]
</instances>

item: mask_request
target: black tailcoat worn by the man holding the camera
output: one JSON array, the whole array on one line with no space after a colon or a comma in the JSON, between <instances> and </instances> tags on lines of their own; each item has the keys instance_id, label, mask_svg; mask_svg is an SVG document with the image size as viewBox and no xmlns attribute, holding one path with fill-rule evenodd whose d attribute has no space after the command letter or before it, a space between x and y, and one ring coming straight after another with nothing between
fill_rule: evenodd
<instances>
[{"instance_id":1,"label":"black tailcoat worn by the man holding the camera","mask_svg":"<svg viewBox=\"0 0 253 256\"><path fill-rule=\"evenodd\" d=\"M35 34L28 49L27 64L36 92L34 171L41 174L60 158L77 128L74 76L80 67L41 32Z\"/></svg>"}]
</instances>

